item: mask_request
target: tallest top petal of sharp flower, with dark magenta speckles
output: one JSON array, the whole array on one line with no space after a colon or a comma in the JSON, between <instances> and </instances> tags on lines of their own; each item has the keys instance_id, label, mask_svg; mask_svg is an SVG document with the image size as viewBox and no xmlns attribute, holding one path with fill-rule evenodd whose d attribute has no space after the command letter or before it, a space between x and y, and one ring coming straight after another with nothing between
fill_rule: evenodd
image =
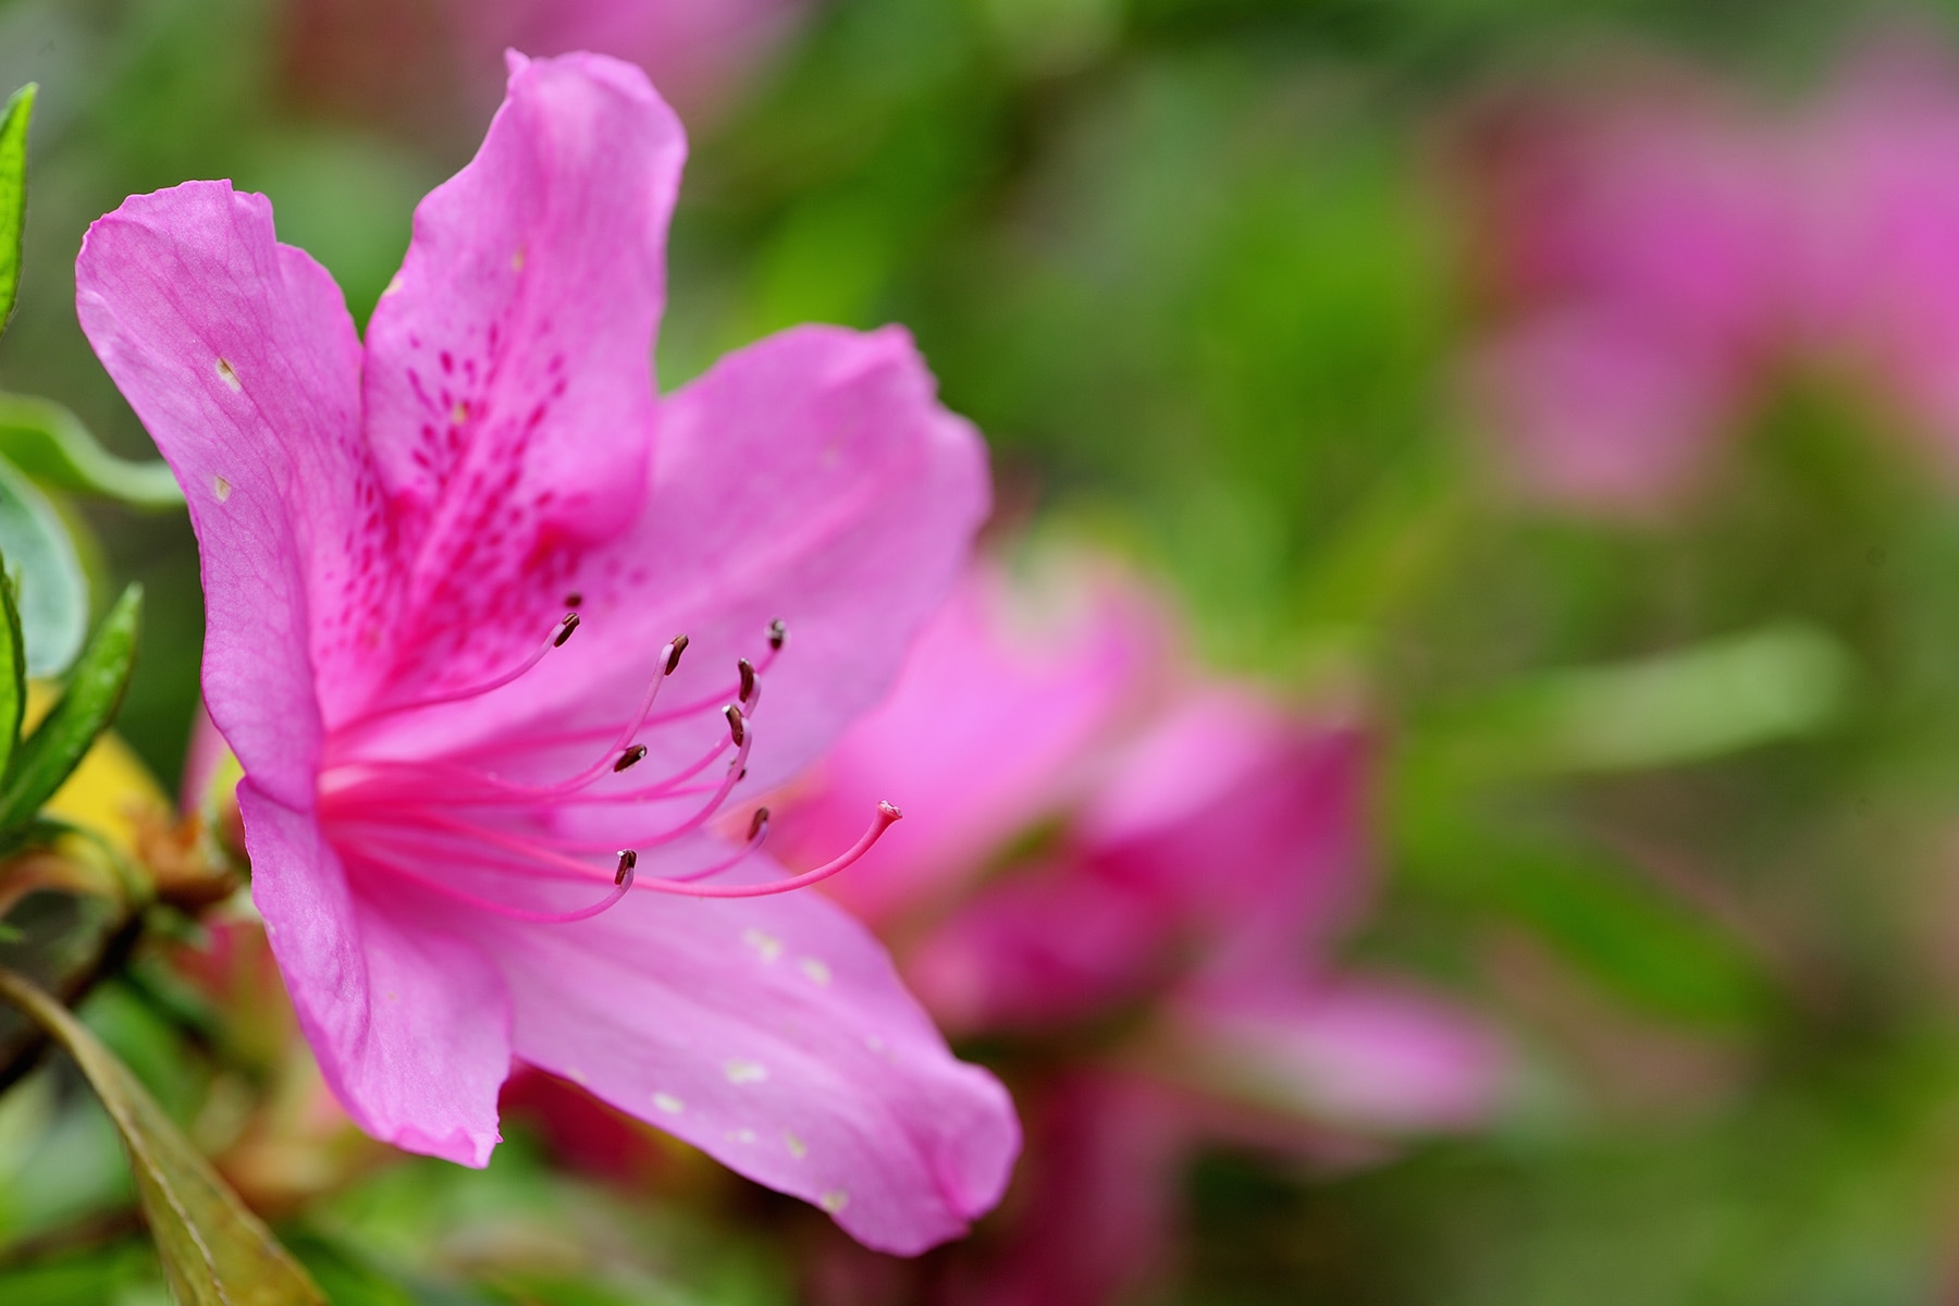
<instances>
[{"instance_id":1,"label":"tallest top petal of sharp flower, with dark magenta speckles","mask_svg":"<svg viewBox=\"0 0 1959 1306\"><path fill-rule=\"evenodd\" d=\"M511 57L482 149L415 210L368 327L368 439L411 558L404 674L480 679L633 521L686 137L633 65Z\"/></svg>"}]
</instances>

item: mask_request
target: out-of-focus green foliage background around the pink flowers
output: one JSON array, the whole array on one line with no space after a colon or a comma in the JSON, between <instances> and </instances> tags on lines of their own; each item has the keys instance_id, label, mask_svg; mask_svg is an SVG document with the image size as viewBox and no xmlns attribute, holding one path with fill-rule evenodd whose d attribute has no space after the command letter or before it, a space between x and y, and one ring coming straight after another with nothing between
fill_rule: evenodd
<instances>
[{"instance_id":1,"label":"out-of-focus green foliage background around the pink flowers","mask_svg":"<svg viewBox=\"0 0 1959 1306\"><path fill-rule=\"evenodd\" d=\"M1959 49L1943 12L1816 0L835 0L690 116L662 386L795 321L909 325L1009 525L1168 578L1224 670L1363 697L1387 891L1354 950L1520 1048L1481 1136L1356 1171L1209 1155L1150 1300L1959 1300L1959 495L1798 378L1693 511L1559 517L1505 497L1457 376L1489 311L1454 184L1477 104L1626 59L1800 96L1898 22ZM72 260L194 176L264 190L364 319L494 104L439 43L407 0L0 0L0 88L41 84L0 388L147 452ZM190 529L86 511L92 566L149 587L119 728L170 781ZM0 1108L0 1300L161 1300L127 1230L59 1234L125 1181L37 1093ZM778 1216L519 1140L488 1175L394 1167L292 1241L337 1300L778 1302L807 1245ZM560 1269L509 1269L533 1243Z\"/></svg>"}]
</instances>

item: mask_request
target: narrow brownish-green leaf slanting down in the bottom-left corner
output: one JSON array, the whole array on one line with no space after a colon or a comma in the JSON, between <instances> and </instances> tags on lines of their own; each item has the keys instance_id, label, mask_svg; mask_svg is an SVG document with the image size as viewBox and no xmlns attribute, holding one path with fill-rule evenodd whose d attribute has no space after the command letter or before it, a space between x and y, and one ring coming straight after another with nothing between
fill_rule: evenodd
<instances>
[{"instance_id":1,"label":"narrow brownish-green leaf slanting down in the bottom-left corner","mask_svg":"<svg viewBox=\"0 0 1959 1306\"><path fill-rule=\"evenodd\" d=\"M323 1306L325 1296L135 1075L61 1003L0 969L0 997L59 1042L129 1149L143 1218L180 1306Z\"/></svg>"}]
</instances>

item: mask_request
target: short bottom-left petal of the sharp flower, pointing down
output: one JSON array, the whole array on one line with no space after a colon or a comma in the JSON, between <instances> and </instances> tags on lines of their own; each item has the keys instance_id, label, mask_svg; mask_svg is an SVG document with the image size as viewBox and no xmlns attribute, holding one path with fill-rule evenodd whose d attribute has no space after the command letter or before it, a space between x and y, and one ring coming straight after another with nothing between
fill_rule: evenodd
<instances>
[{"instance_id":1,"label":"short bottom-left petal of the sharp flower, pointing down","mask_svg":"<svg viewBox=\"0 0 1959 1306\"><path fill-rule=\"evenodd\" d=\"M355 893L310 813L239 785L253 903L300 1028L355 1122L398 1147L484 1165L509 1071L509 1001L413 895Z\"/></svg>"}]
</instances>

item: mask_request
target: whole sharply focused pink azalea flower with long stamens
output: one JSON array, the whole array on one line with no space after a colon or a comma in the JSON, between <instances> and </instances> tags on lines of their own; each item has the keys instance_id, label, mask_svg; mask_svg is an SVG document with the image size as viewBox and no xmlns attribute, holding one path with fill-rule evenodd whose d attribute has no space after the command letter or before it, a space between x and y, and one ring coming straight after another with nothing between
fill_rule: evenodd
<instances>
[{"instance_id":1,"label":"whole sharply focused pink azalea flower with long stamens","mask_svg":"<svg viewBox=\"0 0 1959 1306\"><path fill-rule=\"evenodd\" d=\"M884 691L983 450L899 331L656 396L684 151L637 69L511 57L364 345L225 182L98 221L80 319L190 497L253 899L355 1120L482 1165L517 1057L911 1253L997 1200L1007 1096L782 893L850 854L711 822Z\"/></svg>"}]
</instances>

